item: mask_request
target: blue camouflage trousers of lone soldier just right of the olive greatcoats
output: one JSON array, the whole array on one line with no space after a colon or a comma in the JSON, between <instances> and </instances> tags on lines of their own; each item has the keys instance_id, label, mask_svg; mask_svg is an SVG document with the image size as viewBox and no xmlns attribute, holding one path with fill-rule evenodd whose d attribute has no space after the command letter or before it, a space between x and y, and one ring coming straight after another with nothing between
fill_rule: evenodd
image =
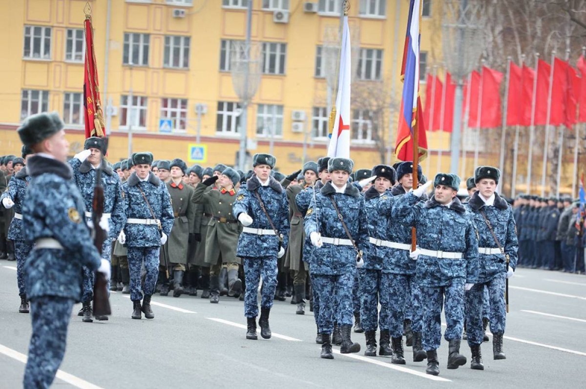
<instances>
[{"instance_id":1,"label":"blue camouflage trousers of lone soldier just right of the olive greatcoats","mask_svg":"<svg viewBox=\"0 0 586 389\"><path fill-rule=\"evenodd\" d=\"M277 256L271 257L244 257L244 316L255 318L258 316L258 284L263 279L261 291L261 308L272 308L272 299L277 290Z\"/></svg>"}]
</instances>

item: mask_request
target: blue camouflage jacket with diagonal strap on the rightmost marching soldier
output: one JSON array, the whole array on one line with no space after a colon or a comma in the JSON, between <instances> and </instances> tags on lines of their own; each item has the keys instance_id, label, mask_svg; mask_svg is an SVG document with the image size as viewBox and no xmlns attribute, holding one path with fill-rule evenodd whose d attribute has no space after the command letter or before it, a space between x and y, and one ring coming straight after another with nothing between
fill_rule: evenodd
<instances>
[{"instance_id":1,"label":"blue camouflage jacket with diagonal strap on the rightmost marching soldier","mask_svg":"<svg viewBox=\"0 0 586 389\"><path fill-rule=\"evenodd\" d=\"M498 245L480 213L482 210L490 221L500 245L505 250L505 255L509 256L509 266L515 270L519 242L517 241L515 217L511 206L497 193L495 193L495 205L486 206L479 197L479 193L475 192L466 204L466 209L471 212L472 222L478 230L478 246L498 249ZM505 263L506 259L503 254L479 254L478 282L486 283L499 273L506 273Z\"/></svg>"}]
</instances>

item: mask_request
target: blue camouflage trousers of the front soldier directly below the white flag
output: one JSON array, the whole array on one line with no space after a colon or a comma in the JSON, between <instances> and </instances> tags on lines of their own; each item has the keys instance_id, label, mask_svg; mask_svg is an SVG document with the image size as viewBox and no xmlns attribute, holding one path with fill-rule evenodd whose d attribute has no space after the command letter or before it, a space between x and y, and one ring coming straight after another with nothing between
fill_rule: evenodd
<instances>
[{"instance_id":1,"label":"blue camouflage trousers of the front soldier directly below the white flag","mask_svg":"<svg viewBox=\"0 0 586 389\"><path fill-rule=\"evenodd\" d=\"M319 297L319 333L332 333L334 321L337 321L338 325L352 325L354 274L314 274L314 281L314 288Z\"/></svg>"}]
</instances>

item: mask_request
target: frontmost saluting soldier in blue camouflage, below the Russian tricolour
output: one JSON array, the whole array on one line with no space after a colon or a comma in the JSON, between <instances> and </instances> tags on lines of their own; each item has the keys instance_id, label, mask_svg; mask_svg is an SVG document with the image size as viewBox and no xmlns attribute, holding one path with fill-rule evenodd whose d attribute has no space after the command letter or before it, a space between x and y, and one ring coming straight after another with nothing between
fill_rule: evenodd
<instances>
[{"instance_id":1,"label":"frontmost saluting soldier in blue camouflage, below the Russian tricolour","mask_svg":"<svg viewBox=\"0 0 586 389\"><path fill-rule=\"evenodd\" d=\"M417 228L417 278L423 296L423 348L428 374L437 376L437 349L441 340L441 311L445 308L449 342L448 369L466 363L459 353L464 326L464 290L478 280L478 232L470 214L456 197L460 178L438 173L433 181L434 197L423 206L418 199L432 181L398 198L392 215L398 222ZM443 304L442 304L443 302Z\"/></svg>"}]
</instances>

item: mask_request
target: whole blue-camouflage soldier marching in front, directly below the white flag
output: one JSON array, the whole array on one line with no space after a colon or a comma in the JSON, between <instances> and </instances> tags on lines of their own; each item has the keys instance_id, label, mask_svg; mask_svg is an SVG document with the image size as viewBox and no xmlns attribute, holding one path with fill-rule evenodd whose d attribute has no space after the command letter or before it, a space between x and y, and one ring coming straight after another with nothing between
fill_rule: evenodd
<instances>
[{"instance_id":1,"label":"whole blue-camouflage soldier marching in front, directly below the white flag","mask_svg":"<svg viewBox=\"0 0 586 389\"><path fill-rule=\"evenodd\" d=\"M313 286L319 295L318 326L323 342L321 357L325 359L333 359L330 336L336 319L335 307L338 308L337 320L342 335L340 352L360 351L360 345L350 339L354 310L352 287L356 267L364 264L363 256L369 249L369 240L364 198L356 187L348 183L353 164L352 160L345 158L328 161L332 181L316 193L305 214L305 234L316 247L309 273L314 277Z\"/></svg>"}]
</instances>

